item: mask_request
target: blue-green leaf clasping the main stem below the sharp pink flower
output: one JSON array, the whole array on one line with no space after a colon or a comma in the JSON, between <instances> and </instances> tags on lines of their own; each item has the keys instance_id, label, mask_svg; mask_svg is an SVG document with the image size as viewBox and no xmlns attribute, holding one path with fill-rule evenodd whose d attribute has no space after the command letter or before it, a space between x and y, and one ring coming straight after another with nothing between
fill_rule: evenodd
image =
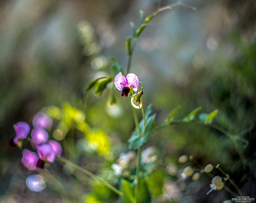
<instances>
[{"instance_id":1,"label":"blue-green leaf clasping the main stem below the sharp pink flower","mask_svg":"<svg viewBox=\"0 0 256 203\"><path fill-rule=\"evenodd\" d=\"M135 129L132 132L132 136L128 140L129 149L138 149L140 146L142 146L151 138L155 128L155 118L156 118L156 114L150 115L151 111L152 111L152 107L148 106L147 112L145 113L145 129L144 129L143 119L139 123L140 132L143 134L139 136L137 129Z\"/></svg>"}]
</instances>

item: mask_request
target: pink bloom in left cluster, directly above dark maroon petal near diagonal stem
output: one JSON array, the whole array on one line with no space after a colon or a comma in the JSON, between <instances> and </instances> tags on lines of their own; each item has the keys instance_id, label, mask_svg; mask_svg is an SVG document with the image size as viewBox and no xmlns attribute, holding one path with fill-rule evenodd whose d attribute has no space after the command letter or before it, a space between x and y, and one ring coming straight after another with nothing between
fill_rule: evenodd
<instances>
[{"instance_id":1,"label":"pink bloom in left cluster, directly above dark maroon petal near diagonal stem","mask_svg":"<svg viewBox=\"0 0 256 203\"><path fill-rule=\"evenodd\" d=\"M37 145L37 154L39 159L53 163L55 160L55 153L49 144Z\"/></svg>"}]
</instances>

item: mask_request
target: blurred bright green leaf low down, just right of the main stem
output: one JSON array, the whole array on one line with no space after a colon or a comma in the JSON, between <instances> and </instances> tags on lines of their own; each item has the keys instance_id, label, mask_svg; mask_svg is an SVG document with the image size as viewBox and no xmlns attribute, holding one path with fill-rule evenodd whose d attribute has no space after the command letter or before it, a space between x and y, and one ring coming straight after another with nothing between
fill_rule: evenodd
<instances>
[{"instance_id":1,"label":"blurred bright green leaf low down, just right of the main stem","mask_svg":"<svg viewBox=\"0 0 256 203\"><path fill-rule=\"evenodd\" d=\"M146 182L152 195L161 195L163 193L164 172L159 170L151 173Z\"/></svg>"}]
</instances>

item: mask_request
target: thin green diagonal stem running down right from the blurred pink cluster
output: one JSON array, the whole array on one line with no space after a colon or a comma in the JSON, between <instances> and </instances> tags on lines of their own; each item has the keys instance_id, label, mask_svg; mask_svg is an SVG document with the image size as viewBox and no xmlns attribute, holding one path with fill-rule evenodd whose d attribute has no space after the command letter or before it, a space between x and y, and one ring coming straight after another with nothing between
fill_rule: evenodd
<instances>
[{"instance_id":1,"label":"thin green diagonal stem running down right from the blurred pink cluster","mask_svg":"<svg viewBox=\"0 0 256 203\"><path fill-rule=\"evenodd\" d=\"M101 179L100 177L94 175L93 173L91 173L90 171L76 165L75 163L65 159L64 157L56 157L57 160L66 163L74 168L76 168L77 170L85 173L87 176L90 176L92 179L99 181L100 183L104 184L105 186L107 186L110 190L112 190L113 192L115 192L117 195L119 196L124 196L124 193L117 190L113 185L109 184L108 182L106 182L105 180Z\"/></svg>"}]
</instances>

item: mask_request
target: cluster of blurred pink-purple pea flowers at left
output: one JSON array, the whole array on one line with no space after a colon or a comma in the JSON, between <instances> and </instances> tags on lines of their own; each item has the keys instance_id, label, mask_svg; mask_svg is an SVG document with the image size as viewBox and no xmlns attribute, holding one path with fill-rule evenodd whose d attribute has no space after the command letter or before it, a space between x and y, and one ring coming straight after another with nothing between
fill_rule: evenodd
<instances>
[{"instance_id":1,"label":"cluster of blurred pink-purple pea flowers at left","mask_svg":"<svg viewBox=\"0 0 256 203\"><path fill-rule=\"evenodd\" d=\"M45 163L53 163L55 157L61 155L62 148L59 142L48 140L46 129L52 127L52 120L45 113L36 114L32 123L34 129L31 130L30 145L37 153L24 149L21 163L29 170L36 170L36 168L44 168ZM10 145L21 147L29 134L30 127L26 122L18 122L13 127L16 136L12 138Z\"/></svg>"}]
</instances>

